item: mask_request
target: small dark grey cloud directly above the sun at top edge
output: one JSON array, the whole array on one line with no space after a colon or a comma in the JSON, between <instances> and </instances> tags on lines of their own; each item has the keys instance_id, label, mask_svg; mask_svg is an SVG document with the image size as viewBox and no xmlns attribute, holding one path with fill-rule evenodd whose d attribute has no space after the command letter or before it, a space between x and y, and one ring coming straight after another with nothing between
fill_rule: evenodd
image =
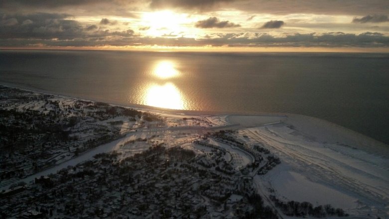
<instances>
[{"instance_id":1,"label":"small dark grey cloud directly above the sun at top edge","mask_svg":"<svg viewBox=\"0 0 389 219\"><path fill-rule=\"evenodd\" d=\"M150 8L183 8L197 10L211 10L214 6L234 0L151 0Z\"/></svg>"}]
</instances>

